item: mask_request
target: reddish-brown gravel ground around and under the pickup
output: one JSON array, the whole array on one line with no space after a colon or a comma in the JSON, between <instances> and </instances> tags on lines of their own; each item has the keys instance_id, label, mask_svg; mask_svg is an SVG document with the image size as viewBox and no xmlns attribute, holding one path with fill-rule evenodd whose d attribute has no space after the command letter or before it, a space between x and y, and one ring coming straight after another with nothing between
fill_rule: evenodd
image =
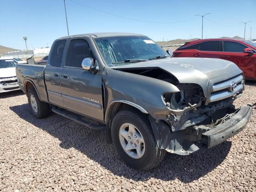
<instances>
[{"instance_id":1,"label":"reddish-brown gravel ground around and under the pickup","mask_svg":"<svg viewBox=\"0 0 256 192\"><path fill-rule=\"evenodd\" d=\"M236 105L256 102L247 83ZM52 114L38 120L18 91L0 95L0 191L256 191L256 109L243 132L148 172L124 164L104 131Z\"/></svg>"}]
</instances>

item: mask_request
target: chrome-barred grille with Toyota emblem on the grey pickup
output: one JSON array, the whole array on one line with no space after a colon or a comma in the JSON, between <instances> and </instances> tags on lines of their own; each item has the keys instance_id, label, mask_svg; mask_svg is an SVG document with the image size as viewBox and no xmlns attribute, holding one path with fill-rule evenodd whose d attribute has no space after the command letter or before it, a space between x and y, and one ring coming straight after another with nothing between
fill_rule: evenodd
<instances>
[{"instance_id":1,"label":"chrome-barred grille with Toyota emblem on the grey pickup","mask_svg":"<svg viewBox=\"0 0 256 192\"><path fill-rule=\"evenodd\" d=\"M236 85L236 86L234 86ZM212 86L210 95L210 102L226 99L235 95L244 88L244 77L239 75L235 78L226 80L224 82L216 83Z\"/></svg>"}]
</instances>

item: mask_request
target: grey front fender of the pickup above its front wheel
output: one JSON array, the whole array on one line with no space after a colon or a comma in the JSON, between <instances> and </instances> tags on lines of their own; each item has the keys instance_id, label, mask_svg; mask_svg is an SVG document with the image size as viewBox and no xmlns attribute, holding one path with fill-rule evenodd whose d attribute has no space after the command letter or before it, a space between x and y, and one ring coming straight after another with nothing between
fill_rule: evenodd
<instances>
[{"instance_id":1,"label":"grey front fender of the pickup above its front wheel","mask_svg":"<svg viewBox=\"0 0 256 192\"><path fill-rule=\"evenodd\" d=\"M162 100L162 94L180 91L168 82L108 67L104 69L102 77L106 106L117 100L132 102L155 119L166 119L166 115L170 113Z\"/></svg>"}]
</instances>

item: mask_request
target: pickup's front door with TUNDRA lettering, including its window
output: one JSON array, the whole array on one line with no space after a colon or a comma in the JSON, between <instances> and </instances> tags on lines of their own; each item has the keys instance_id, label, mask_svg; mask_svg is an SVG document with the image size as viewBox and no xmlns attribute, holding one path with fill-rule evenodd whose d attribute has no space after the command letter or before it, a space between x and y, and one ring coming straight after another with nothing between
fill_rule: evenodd
<instances>
[{"instance_id":1,"label":"pickup's front door with TUNDRA lettering, including its window","mask_svg":"<svg viewBox=\"0 0 256 192\"><path fill-rule=\"evenodd\" d=\"M82 68L84 58L94 58L89 42L90 37L76 38L69 42L66 62L60 75L64 108L104 122L102 74L100 71L92 73Z\"/></svg>"}]
</instances>

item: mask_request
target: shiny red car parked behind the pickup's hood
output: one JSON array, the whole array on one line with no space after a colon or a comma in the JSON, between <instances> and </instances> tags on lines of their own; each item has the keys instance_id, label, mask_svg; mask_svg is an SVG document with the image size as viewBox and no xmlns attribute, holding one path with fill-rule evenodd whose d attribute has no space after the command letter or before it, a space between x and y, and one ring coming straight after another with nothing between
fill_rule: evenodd
<instances>
[{"instance_id":1,"label":"shiny red car parked behind the pickup's hood","mask_svg":"<svg viewBox=\"0 0 256 192\"><path fill-rule=\"evenodd\" d=\"M203 39L186 42L173 57L220 58L234 62L246 79L256 80L256 43L250 40Z\"/></svg>"}]
</instances>

